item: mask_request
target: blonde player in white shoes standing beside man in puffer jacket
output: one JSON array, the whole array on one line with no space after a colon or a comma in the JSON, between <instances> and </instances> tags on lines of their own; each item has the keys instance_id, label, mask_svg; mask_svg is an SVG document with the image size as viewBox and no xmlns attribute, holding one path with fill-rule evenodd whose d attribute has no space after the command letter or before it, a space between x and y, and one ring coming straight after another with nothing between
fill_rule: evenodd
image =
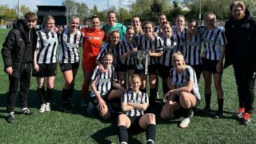
<instances>
[{"instance_id":1,"label":"blonde player in white shoes standing beside man in puffer jacket","mask_svg":"<svg viewBox=\"0 0 256 144\"><path fill-rule=\"evenodd\" d=\"M34 52L34 76L37 77L37 93L41 103L39 112L51 110L50 100L57 70L57 46L55 19L51 15L45 15L43 28L37 32L37 48Z\"/></svg>"}]
</instances>

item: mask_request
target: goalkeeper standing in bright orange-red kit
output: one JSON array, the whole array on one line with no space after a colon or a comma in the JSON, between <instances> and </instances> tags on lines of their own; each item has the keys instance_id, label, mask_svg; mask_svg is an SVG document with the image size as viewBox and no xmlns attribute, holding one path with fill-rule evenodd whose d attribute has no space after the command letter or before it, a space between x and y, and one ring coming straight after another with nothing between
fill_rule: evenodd
<instances>
[{"instance_id":1,"label":"goalkeeper standing in bright orange-red kit","mask_svg":"<svg viewBox=\"0 0 256 144\"><path fill-rule=\"evenodd\" d=\"M99 29L100 19L97 15L91 17L91 27L84 27L80 32L84 34L82 68L84 73L84 84L82 85L81 106L86 106L87 93L91 81L91 75L96 67L96 58L101 50L101 42L104 31Z\"/></svg>"}]
</instances>

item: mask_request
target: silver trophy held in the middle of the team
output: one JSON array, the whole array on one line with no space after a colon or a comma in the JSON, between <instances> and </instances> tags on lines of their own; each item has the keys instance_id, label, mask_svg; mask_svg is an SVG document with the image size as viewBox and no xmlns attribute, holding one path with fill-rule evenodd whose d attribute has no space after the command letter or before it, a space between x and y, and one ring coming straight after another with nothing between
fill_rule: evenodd
<instances>
[{"instance_id":1,"label":"silver trophy held in the middle of the team","mask_svg":"<svg viewBox=\"0 0 256 144\"><path fill-rule=\"evenodd\" d=\"M138 70L145 70L145 74L148 74L148 53L147 51L136 51L136 68Z\"/></svg>"}]
</instances>

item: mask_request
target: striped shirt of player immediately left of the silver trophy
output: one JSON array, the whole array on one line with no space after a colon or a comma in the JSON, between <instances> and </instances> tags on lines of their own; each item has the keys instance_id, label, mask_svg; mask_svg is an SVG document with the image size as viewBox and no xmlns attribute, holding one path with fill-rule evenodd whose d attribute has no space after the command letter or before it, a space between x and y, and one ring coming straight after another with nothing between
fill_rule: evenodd
<instances>
[{"instance_id":1,"label":"striped shirt of player immediately left of the silver trophy","mask_svg":"<svg viewBox=\"0 0 256 144\"><path fill-rule=\"evenodd\" d=\"M124 55L124 53L127 53L128 51L131 51L133 48L136 47L136 42L128 42L126 37L120 41L120 48L119 48L119 54ZM134 65L134 53L127 56L127 58L124 58L120 60L120 63L123 65Z\"/></svg>"}]
</instances>

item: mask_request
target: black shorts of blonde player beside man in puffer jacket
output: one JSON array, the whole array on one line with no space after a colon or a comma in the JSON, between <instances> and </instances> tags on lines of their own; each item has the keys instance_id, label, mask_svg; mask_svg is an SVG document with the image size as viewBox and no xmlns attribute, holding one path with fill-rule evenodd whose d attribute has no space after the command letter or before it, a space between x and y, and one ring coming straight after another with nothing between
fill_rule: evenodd
<instances>
[{"instance_id":1,"label":"black shorts of blonde player beside man in puffer jacket","mask_svg":"<svg viewBox=\"0 0 256 144\"><path fill-rule=\"evenodd\" d=\"M38 64L39 72L33 69L32 76L42 78L42 77L56 77L57 74L57 63L49 64Z\"/></svg>"}]
</instances>

